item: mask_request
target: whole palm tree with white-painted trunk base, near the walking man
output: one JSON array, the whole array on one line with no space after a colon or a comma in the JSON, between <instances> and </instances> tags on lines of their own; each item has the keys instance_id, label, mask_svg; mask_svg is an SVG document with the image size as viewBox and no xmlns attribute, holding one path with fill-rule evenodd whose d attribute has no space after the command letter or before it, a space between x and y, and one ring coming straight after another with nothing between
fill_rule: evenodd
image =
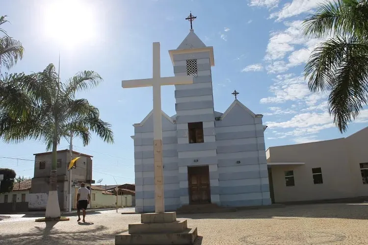
<instances>
[{"instance_id":1,"label":"whole palm tree with white-painted trunk base, near the walking man","mask_svg":"<svg viewBox=\"0 0 368 245\"><path fill-rule=\"evenodd\" d=\"M68 138L73 133L81 138L83 146L90 142L91 132L107 143L113 143L114 138L111 125L100 119L98 108L87 99L76 98L77 92L86 91L102 81L98 73L79 72L62 83L54 65L50 64L43 72L31 76L36 83L32 88L36 89L27 89L27 93L33 96L29 116L25 120L18 120L3 114L0 116L0 129L5 142L41 140L46 143L48 150L52 149L46 218L57 218L60 217L60 208L56 192L56 148L61 138Z\"/></svg>"}]
</instances>

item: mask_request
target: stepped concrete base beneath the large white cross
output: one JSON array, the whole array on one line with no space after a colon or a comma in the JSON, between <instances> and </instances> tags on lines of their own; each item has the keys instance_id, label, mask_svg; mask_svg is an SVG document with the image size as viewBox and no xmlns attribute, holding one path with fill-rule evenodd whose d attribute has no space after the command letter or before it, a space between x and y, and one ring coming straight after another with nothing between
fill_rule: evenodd
<instances>
[{"instance_id":1,"label":"stepped concrete base beneath the large white cross","mask_svg":"<svg viewBox=\"0 0 368 245\"><path fill-rule=\"evenodd\" d=\"M141 222L129 224L127 232L115 236L115 245L189 245L197 238L197 227L177 221L175 212L141 214Z\"/></svg>"}]
</instances>

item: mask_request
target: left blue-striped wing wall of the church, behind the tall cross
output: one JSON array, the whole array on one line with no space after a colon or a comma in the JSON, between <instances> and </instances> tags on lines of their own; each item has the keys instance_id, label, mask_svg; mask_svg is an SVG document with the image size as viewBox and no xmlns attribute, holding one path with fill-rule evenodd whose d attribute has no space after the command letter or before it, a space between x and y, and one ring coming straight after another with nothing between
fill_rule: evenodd
<instances>
[{"instance_id":1,"label":"left blue-striped wing wall of the church, behind the tall cross","mask_svg":"<svg viewBox=\"0 0 368 245\"><path fill-rule=\"evenodd\" d=\"M176 125L162 115L162 161L165 209L177 205L179 196ZM153 115L134 127L135 211L155 211Z\"/></svg>"}]
</instances>

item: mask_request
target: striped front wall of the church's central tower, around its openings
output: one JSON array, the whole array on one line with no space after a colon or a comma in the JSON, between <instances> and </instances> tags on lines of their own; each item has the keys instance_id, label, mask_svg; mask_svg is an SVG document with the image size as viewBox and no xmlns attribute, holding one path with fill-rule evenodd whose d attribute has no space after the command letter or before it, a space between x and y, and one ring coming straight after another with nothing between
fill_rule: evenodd
<instances>
[{"instance_id":1,"label":"striped front wall of the church's central tower, around its openings","mask_svg":"<svg viewBox=\"0 0 368 245\"><path fill-rule=\"evenodd\" d=\"M175 85L180 194L177 207L189 204L188 166L194 165L209 165L210 199L219 204L210 52L174 54L173 59L175 76L186 75L186 60L196 59L198 70L193 84ZM203 122L204 143L189 144L188 123L195 122ZM173 206L172 210L177 207Z\"/></svg>"}]
</instances>

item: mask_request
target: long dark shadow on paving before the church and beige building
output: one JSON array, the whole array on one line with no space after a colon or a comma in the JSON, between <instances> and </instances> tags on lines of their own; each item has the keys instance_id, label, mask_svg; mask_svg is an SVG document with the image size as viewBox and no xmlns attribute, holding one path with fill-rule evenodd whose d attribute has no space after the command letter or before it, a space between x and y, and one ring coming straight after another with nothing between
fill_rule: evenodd
<instances>
[{"instance_id":1,"label":"long dark shadow on paving before the church and beige building","mask_svg":"<svg viewBox=\"0 0 368 245\"><path fill-rule=\"evenodd\" d=\"M343 212L342 212L343 210ZM362 203L333 203L287 205L284 208L249 209L234 213L178 214L185 219L296 219L296 218L336 218L368 220L368 205Z\"/></svg>"}]
</instances>

